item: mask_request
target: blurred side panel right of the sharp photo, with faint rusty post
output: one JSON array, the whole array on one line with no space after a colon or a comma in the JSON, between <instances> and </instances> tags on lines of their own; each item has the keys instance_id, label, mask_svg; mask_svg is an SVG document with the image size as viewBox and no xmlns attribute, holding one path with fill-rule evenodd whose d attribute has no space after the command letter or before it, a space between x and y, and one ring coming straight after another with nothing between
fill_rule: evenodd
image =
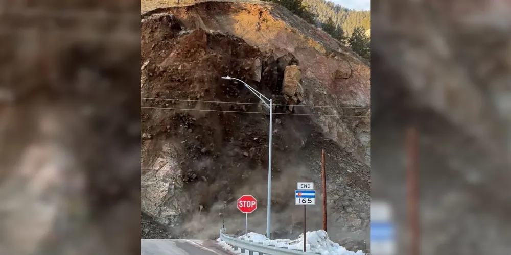
<instances>
[{"instance_id":1,"label":"blurred side panel right of the sharp photo, with faint rusty post","mask_svg":"<svg viewBox=\"0 0 511 255\"><path fill-rule=\"evenodd\" d=\"M395 222L392 254L509 254L509 13L506 0L371 2L371 220Z\"/></svg>"}]
</instances>

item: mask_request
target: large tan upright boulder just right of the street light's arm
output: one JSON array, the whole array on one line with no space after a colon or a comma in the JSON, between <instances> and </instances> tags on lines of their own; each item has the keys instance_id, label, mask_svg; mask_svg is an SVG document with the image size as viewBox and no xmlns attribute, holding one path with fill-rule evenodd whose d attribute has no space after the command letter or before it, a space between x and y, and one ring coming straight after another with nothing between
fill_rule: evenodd
<instances>
[{"instance_id":1,"label":"large tan upright boulder just right of the street light's arm","mask_svg":"<svg viewBox=\"0 0 511 255\"><path fill-rule=\"evenodd\" d=\"M297 105L304 98L304 88L300 84L301 81L301 70L296 65L286 66L284 70L284 81L282 83L282 93L284 98L290 105ZM289 107L289 110L293 110L293 106Z\"/></svg>"}]
</instances>

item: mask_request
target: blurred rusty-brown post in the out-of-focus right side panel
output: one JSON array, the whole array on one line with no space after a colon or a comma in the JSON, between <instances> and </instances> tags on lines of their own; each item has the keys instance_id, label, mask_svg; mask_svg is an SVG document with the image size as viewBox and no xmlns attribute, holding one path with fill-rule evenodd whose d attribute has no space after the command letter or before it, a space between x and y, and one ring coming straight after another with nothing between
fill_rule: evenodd
<instances>
[{"instance_id":1,"label":"blurred rusty-brown post in the out-of-focus right side panel","mask_svg":"<svg viewBox=\"0 0 511 255\"><path fill-rule=\"evenodd\" d=\"M418 171L417 166L417 142L418 135L415 127L409 127L406 134L406 150L408 156L407 164L407 186L408 186L408 220L411 235L410 255L419 255L419 200Z\"/></svg>"}]
</instances>

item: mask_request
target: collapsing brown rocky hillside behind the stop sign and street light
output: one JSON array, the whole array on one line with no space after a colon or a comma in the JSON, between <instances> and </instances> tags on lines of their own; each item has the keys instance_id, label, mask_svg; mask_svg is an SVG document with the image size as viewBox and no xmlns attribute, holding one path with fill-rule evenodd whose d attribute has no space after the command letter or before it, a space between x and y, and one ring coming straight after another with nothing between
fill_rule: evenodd
<instances>
[{"instance_id":1,"label":"collapsing brown rocky hillside behind the stop sign and street light","mask_svg":"<svg viewBox=\"0 0 511 255\"><path fill-rule=\"evenodd\" d=\"M319 188L325 148L329 235L361 248L368 240L370 205L367 63L271 4L159 8L142 14L141 32L144 214L172 238L213 238L223 213L228 232L243 228L244 215L233 201L252 194L259 208L249 228L264 233L267 110L243 85L221 79L230 75L275 104L274 236L300 232L302 212L292 194L298 181ZM320 207L309 212L308 226L319 229ZM144 235L151 236L151 229Z\"/></svg>"}]
</instances>

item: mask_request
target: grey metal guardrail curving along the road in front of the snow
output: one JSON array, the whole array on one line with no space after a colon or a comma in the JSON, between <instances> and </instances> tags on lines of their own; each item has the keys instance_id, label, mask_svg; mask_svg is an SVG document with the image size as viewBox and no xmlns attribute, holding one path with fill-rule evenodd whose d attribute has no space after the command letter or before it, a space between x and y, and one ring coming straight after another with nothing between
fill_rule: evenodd
<instances>
[{"instance_id":1,"label":"grey metal guardrail curving along the road in front of the snow","mask_svg":"<svg viewBox=\"0 0 511 255\"><path fill-rule=\"evenodd\" d=\"M245 250L249 251L250 255L257 252L259 255L317 255L320 253L316 252L303 252L301 250L290 250L283 247L274 247L264 245L262 243L254 243L251 241L245 241L236 237L227 236L223 230L220 230L220 239L226 242L228 245L235 247L235 249L241 249L244 253Z\"/></svg>"}]
</instances>

